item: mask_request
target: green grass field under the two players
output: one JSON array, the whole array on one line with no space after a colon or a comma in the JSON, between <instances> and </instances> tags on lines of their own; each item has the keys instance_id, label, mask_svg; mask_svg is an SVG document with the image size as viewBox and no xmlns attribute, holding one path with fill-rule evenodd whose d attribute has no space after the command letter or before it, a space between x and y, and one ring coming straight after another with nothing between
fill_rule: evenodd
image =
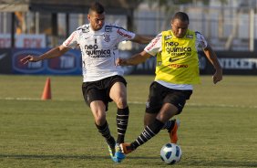
<instances>
[{"instance_id":1,"label":"green grass field under the two players","mask_svg":"<svg viewBox=\"0 0 257 168\"><path fill-rule=\"evenodd\" d=\"M202 83L183 112L180 163L159 159L167 131L113 163L81 93L80 76L51 76L52 100L40 100L46 76L0 75L0 167L257 167L257 77L224 76ZM143 130L144 103L153 76L127 76L130 118L126 142ZM116 136L116 106L108 123Z\"/></svg>"}]
</instances>

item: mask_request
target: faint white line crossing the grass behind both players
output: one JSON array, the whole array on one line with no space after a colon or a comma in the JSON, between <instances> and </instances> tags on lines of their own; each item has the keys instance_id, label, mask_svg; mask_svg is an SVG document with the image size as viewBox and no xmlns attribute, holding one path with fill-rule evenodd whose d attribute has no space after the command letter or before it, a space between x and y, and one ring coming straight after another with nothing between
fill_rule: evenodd
<instances>
[{"instance_id":1,"label":"faint white line crossing the grass behind both players","mask_svg":"<svg viewBox=\"0 0 257 168\"><path fill-rule=\"evenodd\" d=\"M36 98L0 98L0 100L41 100ZM128 101L128 104L146 104L142 101ZM250 108L257 109L257 106L243 106L243 105L228 105L228 104L200 104L200 103L186 103L186 106L192 107L221 107L221 108Z\"/></svg>"}]
</instances>

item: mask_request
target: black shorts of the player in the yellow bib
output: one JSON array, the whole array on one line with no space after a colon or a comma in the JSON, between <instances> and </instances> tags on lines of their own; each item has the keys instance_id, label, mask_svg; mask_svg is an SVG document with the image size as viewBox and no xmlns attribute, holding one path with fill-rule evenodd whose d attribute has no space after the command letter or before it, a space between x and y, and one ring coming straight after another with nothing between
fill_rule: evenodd
<instances>
[{"instance_id":1,"label":"black shorts of the player in the yellow bib","mask_svg":"<svg viewBox=\"0 0 257 168\"><path fill-rule=\"evenodd\" d=\"M158 113L164 103L176 106L179 113L183 110L186 100L190 99L192 90L169 89L154 81L149 87L149 100L146 105L146 112Z\"/></svg>"}]
</instances>

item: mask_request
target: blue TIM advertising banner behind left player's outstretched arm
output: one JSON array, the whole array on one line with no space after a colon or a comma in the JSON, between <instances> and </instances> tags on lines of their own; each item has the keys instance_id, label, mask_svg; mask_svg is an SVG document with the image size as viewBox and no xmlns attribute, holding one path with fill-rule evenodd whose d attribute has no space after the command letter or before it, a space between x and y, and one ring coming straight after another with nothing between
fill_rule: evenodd
<instances>
[{"instance_id":1,"label":"blue TIM advertising banner behind left player's outstretched arm","mask_svg":"<svg viewBox=\"0 0 257 168\"><path fill-rule=\"evenodd\" d=\"M81 56L79 50L69 50L59 58L46 59L38 62L22 64L21 58L27 55L39 56L49 48L44 49L14 49L12 68L15 74L52 74L52 75L81 75Z\"/></svg>"}]
</instances>

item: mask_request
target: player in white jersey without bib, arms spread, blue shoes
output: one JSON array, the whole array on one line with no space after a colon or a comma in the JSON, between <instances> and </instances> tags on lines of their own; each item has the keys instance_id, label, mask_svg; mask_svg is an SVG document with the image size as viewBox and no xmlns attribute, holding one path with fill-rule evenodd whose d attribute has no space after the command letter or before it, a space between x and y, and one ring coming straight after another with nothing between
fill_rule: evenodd
<instances>
[{"instance_id":1,"label":"player in white jersey without bib, arms spread, blue shoes","mask_svg":"<svg viewBox=\"0 0 257 168\"><path fill-rule=\"evenodd\" d=\"M84 99L93 113L98 131L108 142L112 160L120 163L125 155L121 152L119 143L124 142L129 110L127 82L122 77L123 69L115 64L115 60L118 58L118 43L130 40L147 44L151 39L136 35L120 26L105 23L105 9L98 2L90 6L87 19L89 24L79 26L59 47L54 47L39 57L29 55L22 58L21 62L26 64L47 58L57 58L70 48L80 47L83 63L82 91ZM106 119L108 102L112 100L118 107L117 140L111 135Z\"/></svg>"}]
</instances>

